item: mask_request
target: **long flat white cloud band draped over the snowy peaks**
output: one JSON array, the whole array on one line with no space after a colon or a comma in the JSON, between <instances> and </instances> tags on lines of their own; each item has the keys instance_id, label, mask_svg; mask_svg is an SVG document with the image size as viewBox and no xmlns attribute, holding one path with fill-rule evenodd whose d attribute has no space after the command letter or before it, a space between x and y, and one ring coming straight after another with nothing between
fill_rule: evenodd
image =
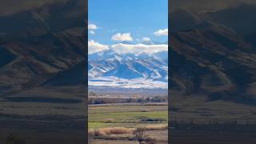
<instances>
[{"instance_id":1,"label":"long flat white cloud band draped over the snowy peaks","mask_svg":"<svg viewBox=\"0 0 256 144\"><path fill-rule=\"evenodd\" d=\"M127 53L132 53L132 54L142 54L142 53L147 53L147 54L154 54L158 53L161 51L167 51L168 50L168 45L162 44L162 45L145 45L145 44L122 44L118 43L115 45L111 46L112 50L118 54L127 54Z\"/></svg>"}]
</instances>

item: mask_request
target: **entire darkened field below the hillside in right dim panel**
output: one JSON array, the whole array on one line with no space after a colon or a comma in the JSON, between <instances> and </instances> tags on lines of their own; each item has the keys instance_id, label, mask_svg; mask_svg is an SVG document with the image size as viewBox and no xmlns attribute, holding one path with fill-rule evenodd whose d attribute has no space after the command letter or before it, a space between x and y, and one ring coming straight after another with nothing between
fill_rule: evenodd
<instances>
[{"instance_id":1,"label":"entire darkened field below the hillside in right dim panel","mask_svg":"<svg viewBox=\"0 0 256 144\"><path fill-rule=\"evenodd\" d=\"M254 144L254 105L225 100L207 101L203 95L170 94L170 143Z\"/></svg>"}]
</instances>

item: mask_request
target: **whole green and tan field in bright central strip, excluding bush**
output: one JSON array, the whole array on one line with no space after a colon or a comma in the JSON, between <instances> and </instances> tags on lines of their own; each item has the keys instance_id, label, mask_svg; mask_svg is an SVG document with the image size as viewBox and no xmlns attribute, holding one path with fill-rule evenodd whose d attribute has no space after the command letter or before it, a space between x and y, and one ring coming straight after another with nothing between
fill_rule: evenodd
<instances>
[{"instance_id":1,"label":"whole green and tan field in bright central strip, excluding bush","mask_svg":"<svg viewBox=\"0 0 256 144\"><path fill-rule=\"evenodd\" d=\"M122 103L89 106L90 143L138 143L134 131L167 143L167 103Z\"/></svg>"}]
</instances>

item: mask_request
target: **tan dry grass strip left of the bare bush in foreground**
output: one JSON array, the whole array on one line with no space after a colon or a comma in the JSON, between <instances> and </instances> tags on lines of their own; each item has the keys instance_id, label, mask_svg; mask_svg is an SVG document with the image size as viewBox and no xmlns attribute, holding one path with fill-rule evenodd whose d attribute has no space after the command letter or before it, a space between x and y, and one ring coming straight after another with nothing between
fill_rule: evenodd
<instances>
[{"instance_id":1,"label":"tan dry grass strip left of the bare bush in foreground","mask_svg":"<svg viewBox=\"0 0 256 144\"><path fill-rule=\"evenodd\" d=\"M126 127L108 127L108 128L99 128L94 130L89 130L90 136L106 136L110 134L131 134L134 132L134 128Z\"/></svg>"}]
</instances>

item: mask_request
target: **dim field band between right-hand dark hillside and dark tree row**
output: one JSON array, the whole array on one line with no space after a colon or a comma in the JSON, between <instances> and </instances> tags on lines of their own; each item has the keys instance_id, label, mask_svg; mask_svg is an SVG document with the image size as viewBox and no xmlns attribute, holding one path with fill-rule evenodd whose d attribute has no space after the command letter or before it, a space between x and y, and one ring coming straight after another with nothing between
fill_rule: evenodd
<instances>
[{"instance_id":1,"label":"dim field band between right-hand dark hillside and dark tree row","mask_svg":"<svg viewBox=\"0 0 256 144\"><path fill-rule=\"evenodd\" d=\"M256 121L254 105L224 100L206 101L201 95L182 96L170 94L170 116L179 119L194 118L201 122L208 119L237 119L240 122Z\"/></svg>"}]
</instances>

